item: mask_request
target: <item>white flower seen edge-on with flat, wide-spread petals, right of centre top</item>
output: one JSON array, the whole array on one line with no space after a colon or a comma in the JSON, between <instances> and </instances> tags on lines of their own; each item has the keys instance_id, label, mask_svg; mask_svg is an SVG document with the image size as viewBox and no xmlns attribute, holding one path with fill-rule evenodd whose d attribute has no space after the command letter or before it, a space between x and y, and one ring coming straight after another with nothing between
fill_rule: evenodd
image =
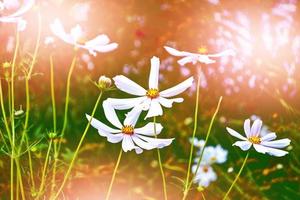
<instances>
[{"instance_id":1,"label":"white flower seen edge-on with flat, wide-spread petals, right of centre top","mask_svg":"<svg viewBox=\"0 0 300 200\"><path fill-rule=\"evenodd\" d=\"M199 53L190 53L186 51L178 51L174 48L167 47L167 46L165 46L164 48L169 54L173 56L183 57L180 60L178 60L179 65L185 65L187 63L196 64L197 62L211 64L216 62L215 60L212 60L212 58L235 55L235 52L233 50L226 50L217 54L199 54Z\"/></svg>"}]
</instances>

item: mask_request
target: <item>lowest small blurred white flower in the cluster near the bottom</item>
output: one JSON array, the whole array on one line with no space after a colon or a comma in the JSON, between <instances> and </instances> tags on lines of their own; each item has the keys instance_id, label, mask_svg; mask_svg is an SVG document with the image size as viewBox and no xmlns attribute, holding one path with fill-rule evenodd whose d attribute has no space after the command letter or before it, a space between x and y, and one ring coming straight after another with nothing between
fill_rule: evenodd
<instances>
[{"instance_id":1,"label":"lowest small blurred white flower in the cluster near the bottom","mask_svg":"<svg viewBox=\"0 0 300 200\"><path fill-rule=\"evenodd\" d=\"M192 172L195 173L196 169L197 165L193 165ZM201 187L208 187L215 180L217 180L217 174L209 165L200 166L194 178L194 182Z\"/></svg>"}]
</instances>

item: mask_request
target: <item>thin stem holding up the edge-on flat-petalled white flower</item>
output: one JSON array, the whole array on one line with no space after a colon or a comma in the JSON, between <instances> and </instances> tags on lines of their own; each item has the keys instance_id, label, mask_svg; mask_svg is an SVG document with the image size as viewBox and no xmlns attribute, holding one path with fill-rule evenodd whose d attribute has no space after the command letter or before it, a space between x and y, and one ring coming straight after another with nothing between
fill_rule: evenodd
<instances>
[{"instance_id":1,"label":"thin stem holding up the edge-on flat-petalled white flower","mask_svg":"<svg viewBox=\"0 0 300 200\"><path fill-rule=\"evenodd\" d=\"M195 102L195 113L194 113L194 130L193 130L193 135L192 135L192 144L191 144L191 149L190 149L188 171L187 171L186 180L185 180L185 191L188 188L188 183L190 180L191 165L192 165L193 152L194 152L194 141L195 141L195 135L197 132L197 127L198 127L199 93L200 93L200 75L198 76L198 79L197 79L197 91L196 91L196 102Z\"/></svg>"}]
</instances>

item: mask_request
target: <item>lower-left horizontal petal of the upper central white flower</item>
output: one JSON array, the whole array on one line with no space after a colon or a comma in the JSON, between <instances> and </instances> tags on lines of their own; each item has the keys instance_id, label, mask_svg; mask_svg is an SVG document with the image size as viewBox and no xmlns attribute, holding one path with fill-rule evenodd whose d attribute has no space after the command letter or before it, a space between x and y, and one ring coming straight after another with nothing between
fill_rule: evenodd
<instances>
[{"instance_id":1,"label":"lower-left horizontal petal of the upper central white flower","mask_svg":"<svg viewBox=\"0 0 300 200\"><path fill-rule=\"evenodd\" d=\"M144 96L144 97L126 98L126 99L108 98L105 101L107 101L116 110L127 110L135 107L136 105L141 104L146 99L147 97Z\"/></svg>"}]
</instances>

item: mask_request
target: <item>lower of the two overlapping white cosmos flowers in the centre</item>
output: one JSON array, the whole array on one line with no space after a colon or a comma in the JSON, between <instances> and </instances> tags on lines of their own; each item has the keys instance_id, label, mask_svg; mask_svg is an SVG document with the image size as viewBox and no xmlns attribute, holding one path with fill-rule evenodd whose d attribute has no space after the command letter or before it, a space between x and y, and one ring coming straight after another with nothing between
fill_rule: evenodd
<instances>
[{"instance_id":1,"label":"lower of the two overlapping white cosmos flowers in the centre","mask_svg":"<svg viewBox=\"0 0 300 200\"><path fill-rule=\"evenodd\" d=\"M156 133L154 133L154 123L148 123L141 128L135 128L137 120L140 116L141 109L133 109L132 112L127 114L123 124L119 121L115 110L107 104L103 103L104 113L108 121L116 128L111 128L97 119L91 120L91 125L98 129L98 133L107 138L111 143L122 142L122 148L125 152L135 150L137 154L145 150L155 148L163 148L172 143L173 139L158 139L153 136L158 135L162 131L162 125L156 123ZM87 119L91 117L86 115Z\"/></svg>"}]
</instances>

